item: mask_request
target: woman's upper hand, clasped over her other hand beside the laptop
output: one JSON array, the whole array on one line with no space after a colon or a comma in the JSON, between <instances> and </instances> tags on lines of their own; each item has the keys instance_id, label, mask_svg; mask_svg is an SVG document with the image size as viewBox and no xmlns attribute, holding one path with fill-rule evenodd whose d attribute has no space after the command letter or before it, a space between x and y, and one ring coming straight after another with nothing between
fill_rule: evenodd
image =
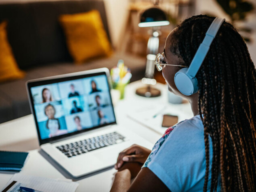
<instances>
[{"instance_id":1,"label":"woman's upper hand, clasped over her other hand beside the laptop","mask_svg":"<svg viewBox=\"0 0 256 192\"><path fill-rule=\"evenodd\" d=\"M150 153L151 150L143 146L134 144L119 153L118 161L115 164L115 169L119 169L120 167L122 167L124 162L145 163Z\"/></svg>"}]
</instances>

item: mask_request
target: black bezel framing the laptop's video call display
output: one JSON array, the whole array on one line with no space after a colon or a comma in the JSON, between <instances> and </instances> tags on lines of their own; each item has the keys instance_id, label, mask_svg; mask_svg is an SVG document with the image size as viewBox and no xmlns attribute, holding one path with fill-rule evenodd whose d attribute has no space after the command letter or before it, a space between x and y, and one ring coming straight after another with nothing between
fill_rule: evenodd
<instances>
[{"instance_id":1,"label":"black bezel framing the laptop's video call display","mask_svg":"<svg viewBox=\"0 0 256 192\"><path fill-rule=\"evenodd\" d=\"M107 71L106 71L107 70ZM113 102L112 102L112 98L111 98L111 86L109 83L109 71L108 69L103 68L102 70L97 69L94 73L93 71L95 70L90 70L90 71L83 71L83 72L78 72L78 73L69 73L69 74L65 74L65 75L57 75L57 76L53 76L53 77L46 77L46 78L42 78L42 79L35 79L35 80L30 80L27 81L27 92L29 95L29 104L30 104L30 109L31 112L34 116L34 121L36 124L36 130L37 130L37 135L38 135L38 140L39 140L39 144L45 144L48 142L55 142L57 140L62 140L64 138L67 138L69 136L75 136L93 129L98 129L101 127L105 127L107 125L114 125L116 124L116 118L115 118L115 111L113 109ZM92 128L88 128L88 129L82 129L80 131L74 131L68 134L63 134L60 136L55 136L53 138L46 138L46 139L41 139L41 135L40 135L40 131L39 131L39 126L38 126L38 121L36 118L36 111L35 111L35 107L34 107L34 100L33 100L33 96L31 93L31 88L36 87L36 86L44 86L44 85L48 85L48 84L52 84L52 83L59 83L59 82L64 82L64 81L71 81L71 80L76 80L76 79L84 79L86 77L94 77L94 76L98 76L98 75L105 75L106 80L107 80L107 85L108 85L108 89L109 89L109 95L110 95L110 102L111 102L111 106L112 106L112 111L113 111L113 115L114 115L114 122L111 123L107 123L104 125L98 125Z\"/></svg>"}]
</instances>

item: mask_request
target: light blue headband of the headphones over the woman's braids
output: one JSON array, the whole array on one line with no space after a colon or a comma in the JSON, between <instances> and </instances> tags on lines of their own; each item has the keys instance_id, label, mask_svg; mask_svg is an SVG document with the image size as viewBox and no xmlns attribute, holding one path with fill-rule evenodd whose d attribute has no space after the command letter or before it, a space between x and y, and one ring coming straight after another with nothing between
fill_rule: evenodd
<instances>
[{"instance_id":1,"label":"light blue headband of the headphones over the woman's braids","mask_svg":"<svg viewBox=\"0 0 256 192\"><path fill-rule=\"evenodd\" d=\"M218 30L220 29L221 24L225 21L225 19L216 17L210 27L206 32L206 36L203 42L200 44L195 56L189 66L187 71L187 75L191 77L195 77L199 68L201 67L208 50L210 49L210 45L212 44L213 39L215 38Z\"/></svg>"}]
</instances>

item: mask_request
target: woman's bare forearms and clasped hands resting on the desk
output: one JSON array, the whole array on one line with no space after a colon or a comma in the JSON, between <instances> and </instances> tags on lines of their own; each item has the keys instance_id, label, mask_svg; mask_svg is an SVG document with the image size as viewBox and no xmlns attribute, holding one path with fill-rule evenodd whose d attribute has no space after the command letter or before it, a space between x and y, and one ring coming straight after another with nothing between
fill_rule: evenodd
<instances>
[{"instance_id":1,"label":"woman's bare forearms and clasped hands resting on the desk","mask_svg":"<svg viewBox=\"0 0 256 192\"><path fill-rule=\"evenodd\" d=\"M163 191L170 192L166 185L147 167L141 169L151 150L132 145L120 152L115 169L111 192ZM131 179L134 181L131 183Z\"/></svg>"}]
</instances>

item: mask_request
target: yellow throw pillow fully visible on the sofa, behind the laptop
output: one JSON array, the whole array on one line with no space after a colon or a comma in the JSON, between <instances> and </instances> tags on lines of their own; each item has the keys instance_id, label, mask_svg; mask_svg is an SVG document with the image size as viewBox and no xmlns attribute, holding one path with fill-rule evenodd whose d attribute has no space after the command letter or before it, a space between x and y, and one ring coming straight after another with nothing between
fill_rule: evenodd
<instances>
[{"instance_id":1,"label":"yellow throw pillow fully visible on the sofa, behind the laptop","mask_svg":"<svg viewBox=\"0 0 256 192\"><path fill-rule=\"evenodd\" d=\"M99 11L61 15L59 21L66 35L69 53L76 63L82 63L89 58L111 55L111 44Z\"/></svg>"}]
</instances>

